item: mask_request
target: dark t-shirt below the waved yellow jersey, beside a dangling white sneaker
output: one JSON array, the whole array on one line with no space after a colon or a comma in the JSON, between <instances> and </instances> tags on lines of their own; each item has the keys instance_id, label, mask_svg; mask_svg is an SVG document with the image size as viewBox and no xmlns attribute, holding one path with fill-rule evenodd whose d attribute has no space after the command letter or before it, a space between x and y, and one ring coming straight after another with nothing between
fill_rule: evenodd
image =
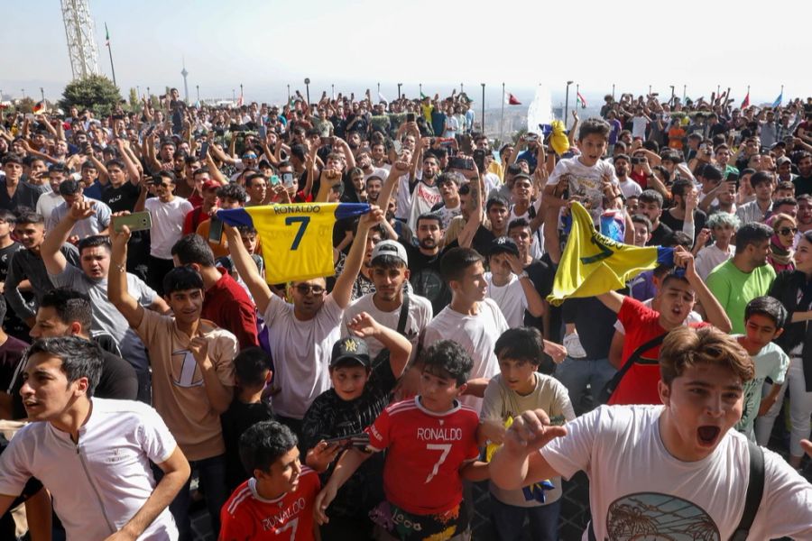
<instances>
[{"instance_id":1,"label":"dark t-shirt below the waved yellow jersey, beside a dangling white sneaker","mask_svg":"<svg viewBox=\"0 0 812 541\"><path fill-rule=\"evenodd\" d=\"M607 359L617 315L594 297L567 298L561 305L564 323L574 323L586 358Z\"/></svg>"}]
</instances>

